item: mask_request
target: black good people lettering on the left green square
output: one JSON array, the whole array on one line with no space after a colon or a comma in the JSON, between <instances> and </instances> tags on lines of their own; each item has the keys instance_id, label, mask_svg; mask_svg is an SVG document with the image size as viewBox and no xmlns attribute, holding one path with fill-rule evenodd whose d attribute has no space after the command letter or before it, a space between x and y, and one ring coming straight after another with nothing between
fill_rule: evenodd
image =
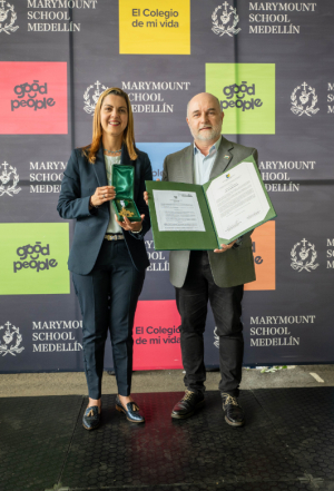
<instances>
[{"instance_id":1,"label":"black good people lettering on the left green square","mask_svg":"<svg viewBox=\"0 0 334 491\"><path fill-rule=\"evenodd\" d=\"M47 244L46 246L42 246L41 242L36 242L33 246L26 245L18 247L17 255L19 256L20 261L13 262L14 273L18 273L20 269L23 268L36 269L36 272L39 273L40 271L45 271L45 269L49 269L50 267L58 266L56 259L50 259L49 257L46 258L42 257L50 255L50 245Z\"/></svg>"}]
</instances>

